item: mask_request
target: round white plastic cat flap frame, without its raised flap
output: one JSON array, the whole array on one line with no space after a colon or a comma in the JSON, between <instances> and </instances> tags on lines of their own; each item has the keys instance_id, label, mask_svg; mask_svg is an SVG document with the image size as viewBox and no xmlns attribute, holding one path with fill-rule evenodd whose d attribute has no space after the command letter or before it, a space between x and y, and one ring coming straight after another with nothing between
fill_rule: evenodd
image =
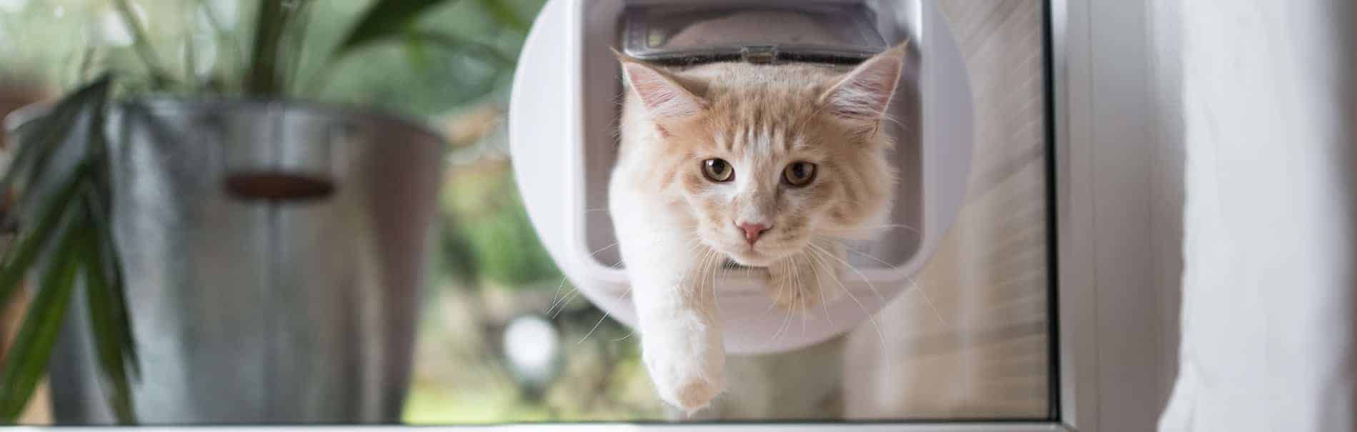
<instances>
[{"instance_id":1,"label":"round white plastic cat flap frame, without its raised flap","mask_svg":"<svg viewBox=\"0 0 1357 432\"><path fill-rule=\"evenodd\" d=\"M635 325L608 207L628 7L689 9L787 7L750 0L552 0L524 46L509 110L514 172L529 217L571 283L616 320ZM972 99L957 45L934 1L821 0L794 4L860 7L886 45L911 41L909 61L887 115L890 153L901 180L892 221L873 241L849 245L840 279L849 294L805 313L806 325L779 332L760 280L730 271L716 282L726 349L760 353L828 340L866 324L908 291L957 215L972 152ZM801 317L797 318L801 321ZM889 318L885 318L889 321ZM776 336L776 337L773 337Z\"/></svg>"}]
</instances>

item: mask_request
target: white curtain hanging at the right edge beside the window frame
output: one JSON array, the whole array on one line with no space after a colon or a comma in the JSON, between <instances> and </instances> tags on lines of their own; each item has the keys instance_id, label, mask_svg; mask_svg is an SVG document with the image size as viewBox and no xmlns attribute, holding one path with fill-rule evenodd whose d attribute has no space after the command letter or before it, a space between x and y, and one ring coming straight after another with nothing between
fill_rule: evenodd
<instances>
[{"instance_id":1,"label":"white curtain hanging at the right edge beside the window frame","mask_svg":"<svg viewBox=\"0 0 1357 432\"><path fill-rule=\"evenodd\" d=\"M1163 431L1354 431L1352 0L1160 1L1186 148ZM1159 27L1160 30L1163 26ZM1174 70L1170 70L1174 72Z\"/></svg>"}]
</instances>

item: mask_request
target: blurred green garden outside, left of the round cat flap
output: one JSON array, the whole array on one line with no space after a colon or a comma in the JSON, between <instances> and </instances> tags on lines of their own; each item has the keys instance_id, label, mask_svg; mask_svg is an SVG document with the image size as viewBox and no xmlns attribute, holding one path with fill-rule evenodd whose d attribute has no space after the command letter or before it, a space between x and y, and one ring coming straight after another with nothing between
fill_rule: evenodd
<instances>
[{"instance_id":1,"label":"blurred green garden outside, left of the round cat flap","mask_svg":"<svg viewBox=\"0 0 1357 432\"><path fill-rule=\"evenodd\" d=\"M147 76L138 56L239 81L258 1L0 0L0 114L52 100L91 70ZM413 424L660 420L636 339L592 307L537 242L517 195L505 112L514 62L543 0L451 0L408 38L330 54L368 0L294 0L301 99L377 107L422 121L451 149L440 248L423 297L403 420ZM126 7L156 49L138 51ZM136 85L136 83L128 84ZM153 372L153 371L148 371Z\"/></svg>"}]
</instances>

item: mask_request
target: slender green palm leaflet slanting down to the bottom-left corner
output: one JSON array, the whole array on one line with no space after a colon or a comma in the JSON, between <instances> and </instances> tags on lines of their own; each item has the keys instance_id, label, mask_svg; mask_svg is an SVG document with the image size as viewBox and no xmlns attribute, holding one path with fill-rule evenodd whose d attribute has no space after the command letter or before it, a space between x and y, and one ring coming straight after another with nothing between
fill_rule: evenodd
<instances>
[{"instance_id":1,"label":"slender green palm leaflet slanting down to the bottom-left corner","mask_svg":"<svg viewBox=\"0 0 1357 432\"><path fill-rule=\"evenodd\" d=\"M71 294L75 288L79 261L73 246L80 241L81 229L68 229L53 256L50 267L42 278L38 295L28 305L28 313L23 316L19 334L4 367L0 370L0 421L12 424L23 413L28 404L28 397L46 374L47 360L52 358L52 348L56 345L57 334L71 305Z\"/></svg>"}]
</instances>

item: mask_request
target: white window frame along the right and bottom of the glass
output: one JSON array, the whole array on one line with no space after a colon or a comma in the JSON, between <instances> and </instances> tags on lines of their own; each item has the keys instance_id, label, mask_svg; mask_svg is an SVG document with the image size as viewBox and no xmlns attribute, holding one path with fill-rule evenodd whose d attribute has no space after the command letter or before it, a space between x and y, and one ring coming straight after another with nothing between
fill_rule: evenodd
<instances>
[{"instance_id":1,"label":"white window frame along the right and bottom of the glass","mask_svg":"<svg viewBox=\"0 0 1357 432\"><path fill-rule=\"evenodd\" d=\"M556 0L588 1L588 0ZM1149 64L1147 11L1148 1L1099 3L1091 0L1045 0L1046 68L1048 68L1048 188L1054 215L1054 249L1052 269L1056 275L1052 307L1052 412L1046 421L966 421L966 423L733 423L733 424L508 424L459 427L459 431L852 431L852 432L1054 432L1054 431L1141 431L1158 416L1175 374L1171 359L1177 356L1177 326L1172 317L1178 301L1174 287L1153 286L1153 275L1143 278L1099 279L1102 272L1115 275L1109 267L1153 268L1145 251L1126 251L1120 242L1132 236L1145 236L1111 222L1128 217L1149 218L1152 209L1134 202L1099 200L1109 187L1134 192L1137 180L1152 176L1155 148L1136 146L1153 141L1144 135L1114 135L1106 130L1118 126L1145 126L1152 118L1148 93L1151 80L1126 83L1125 65ZM1096 26L1094 26L1096 23ZM1095 50L1096 49L1096 50ZM1094 56L1095 51L1117 56ZM1118 74L1121 73L1121 74ZM1121 89L1109 91L1109 85ZM1132 93L1128 93L1132 92ZM1113 95L1115 98L1107 98ZM1129 104L1126 106L1128 102ZM1132 127L1134 129L1134 127ZM1095 135L1095 130L1098 134ZM1147 142L1148 142L1147 141ZM1143 142L1140 142L1143 144ZM1129 149L1128 149L1129 148ZM1111 149L1115 149L1113 152ZM1132 156L1126 158L1126 153ZM1115 158L1113 157L1115 156ZM1115 177L1118 173L1133 173ZM1136 177L1139 175L1140 177ZM1148 192L1145 192L1148 194ZM1126 214L1130 213L1130 214ZM1179 241L1179 240L1170 240ZM1111 263L1109 265L1109 263ZM1099 264L1102 264L1099 267ZM1148 287L1148 288L1145 288ZM1137 290L1145 288L1145 290ZM1120 295L1118 295L1120 294ZM1134 294L1145 297L1134 305L1111 305ZM1130 307L1130 313L1099 314L1109 307ZM1153 307L1149 310L1148 307ZM1144 349L1158 362L1122 360L1101 352L1099 341L1111 341L1118 351ZM1106 348L1106 347L1103 347ZM1134 385L1136 382L1151 385ZM1115 386L1115 389L1113 389ZM1113 391L1115 390L1115 391ZM1130 402L1128 402L1130 401ZM331 425L331 427L243 427L256 431L365 429L403 431L402 425ZM15 429L41 429L16 427ZM113 428L92 427L87 431ZM161 429L161 428L157 428ZM164 428L178 429L178 428Z\"/></svg>"}]
</instances>

